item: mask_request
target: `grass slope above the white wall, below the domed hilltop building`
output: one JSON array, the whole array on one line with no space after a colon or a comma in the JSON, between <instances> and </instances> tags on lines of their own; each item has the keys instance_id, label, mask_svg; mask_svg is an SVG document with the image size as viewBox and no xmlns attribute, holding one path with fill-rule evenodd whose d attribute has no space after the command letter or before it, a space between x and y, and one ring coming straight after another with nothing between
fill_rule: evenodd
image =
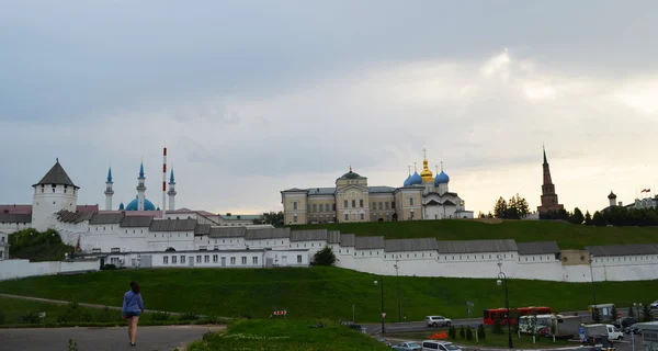
<instances>
[{"instance_id":1,"label":"grass slope above the white wall, below the domed hilltop building","mask_svg":"<svg viewBox=\"0 0 658 351\"><path fill-rule=\"evenodd\" d=\"M293 226L292 230L340 230L344 234L384 236L386 239L427 238L438 240L514 239L518 242L555 240L560 249L582 249L590 245L655 244L655 227L591 227L547 220L442 219L413 222L337 223Z\"/></svg>"}]
</instances>

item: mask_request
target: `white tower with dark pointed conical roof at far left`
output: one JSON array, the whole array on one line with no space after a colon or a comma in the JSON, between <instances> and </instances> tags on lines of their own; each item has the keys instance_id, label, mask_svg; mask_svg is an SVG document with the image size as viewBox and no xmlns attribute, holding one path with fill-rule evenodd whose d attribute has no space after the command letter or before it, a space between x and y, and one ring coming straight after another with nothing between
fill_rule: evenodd
<instances>
[{"instance_id":1,"label":"white tower with dark pointed conical roof at far left","mask_svg":"<svg viewBox=\"0 0 658 351\"><path fill-rule=\"evenodd\" d=\"M59 159L36 184L32 185L32 227L44 231L53 227L55 214L61 210L76 212L78 190L68 177Z\"/></svg>"}]
</instances>

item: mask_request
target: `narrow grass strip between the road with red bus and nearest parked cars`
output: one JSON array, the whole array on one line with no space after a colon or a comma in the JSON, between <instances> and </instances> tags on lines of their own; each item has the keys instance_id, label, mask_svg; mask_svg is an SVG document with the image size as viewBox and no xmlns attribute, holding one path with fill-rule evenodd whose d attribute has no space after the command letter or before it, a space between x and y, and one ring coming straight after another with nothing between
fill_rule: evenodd
<instances>
[{"instance_id":1,"label":"narrow grass strip between the road with red bus and nearest parked cars","mask_svg":"<svg viewBox=\"0 0 658 351\"><path fill-rule=\"evenodd\" d=\"M427 331L427 332L388 333L385 336L385 338L389 339L389 340L421 341L421 340L428 340L429 336L431 336L432 333L434 333L436 331L439 331L439 330L432 329L431 331ZM478 346L481 348L507 348L508 347L507 329L504 330L504 333L502 333L502 335L492 333L490 328L487 328L486 331L487 332L486 332L485 339L478 339L476 341L475 331L473 332L473 339L468 340L468 339L462 338L460 336L460 328L457 328L456 339L449 340L449 341L451 341L455 344L458 344L458 346L470 346L470 347ZM396 342L393 342L393 343L395 344ZM556 339L555 342L553 342L552 338L542 338L542 337L536 337L533 342L532 336L521 335L521 337L519 337L517 333L512 333L512 343L513 343L514 348L517 348L517 349L520 349L520 348L523 348L523 349L564 348L567 346L574 346L574 347L578 346L577 342L569 342L568 340Z\"/></svg>"}]
</instances>

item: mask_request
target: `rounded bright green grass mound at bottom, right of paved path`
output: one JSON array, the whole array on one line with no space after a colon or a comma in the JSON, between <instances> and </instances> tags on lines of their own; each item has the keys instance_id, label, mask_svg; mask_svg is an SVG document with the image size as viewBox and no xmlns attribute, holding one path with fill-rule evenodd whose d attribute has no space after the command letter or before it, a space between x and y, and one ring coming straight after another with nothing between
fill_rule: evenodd
<instances>
[{"instance_id":1,"label":"rounded bright green grass mound at bottom, right of paved path","mask_svg":"<svg viewBox=\"0 0 658 351\"><path fill-rule=\"evenodd\" d=\"M351 351L390 350L383 343L345 326L321 320L324 328L310 328L317 320L241 320L226 332L208 335L188 348L189 351Z\"/></svg>"}]
</instances>

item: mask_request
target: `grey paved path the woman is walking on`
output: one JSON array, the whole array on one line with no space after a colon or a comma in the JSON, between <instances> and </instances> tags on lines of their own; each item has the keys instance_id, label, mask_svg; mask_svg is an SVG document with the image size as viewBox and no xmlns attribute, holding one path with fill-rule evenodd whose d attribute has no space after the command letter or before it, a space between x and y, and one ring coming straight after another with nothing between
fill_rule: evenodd
<instances>
[{"instance_id":1,"label":"grey paved path the woman is walking on","mask_svg":"<svg viewBox=\"0 0 658 351\"><path fill-rule=\"evenodd\" d=\"M149 350L172 351L191 341L201 340L208 330L218 326L139 327L137 347L131 348L127 328L57 328L0 329L0 349L3 351L65 351L68 340L78 342L80 351Z\"/></svg>"}]
</instances>

